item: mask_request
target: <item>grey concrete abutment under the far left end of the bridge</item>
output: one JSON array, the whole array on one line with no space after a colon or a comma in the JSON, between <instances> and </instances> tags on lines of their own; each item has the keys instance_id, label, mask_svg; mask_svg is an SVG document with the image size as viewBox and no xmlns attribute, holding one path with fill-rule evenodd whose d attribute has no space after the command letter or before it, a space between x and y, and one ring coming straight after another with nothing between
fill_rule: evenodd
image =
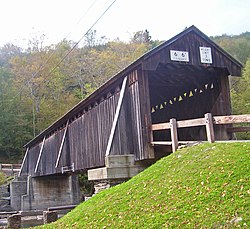
<instances>
[{"instance_id":1,"label":"grey concrete abutment under the far left end of the bridge","mask_svg":"<svg viewBox=\"0 0 250 229\"><path fill-rule=\"evenodd\" d=\"M80 203L78 177L75 174L18 177L10 187L13 210L46 210L48 207Z\"/></svg>"}]
</instances>

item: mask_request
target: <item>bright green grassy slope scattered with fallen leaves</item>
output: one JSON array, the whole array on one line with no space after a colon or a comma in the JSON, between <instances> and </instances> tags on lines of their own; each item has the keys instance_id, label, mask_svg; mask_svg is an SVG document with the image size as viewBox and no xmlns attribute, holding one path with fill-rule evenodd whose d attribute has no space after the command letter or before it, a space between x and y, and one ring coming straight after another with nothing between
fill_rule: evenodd
<instances>
[{"instance_id":1,"label":"bright green grassy slope scattered with fallen leaves","mask_svg":"<svg viewBox=\"0 0 250 229\"><path fill-rule=\"evenodd\" d=\"M43 227L247 228L249 168L250 143L178 150Z\"/></svg>"}]
</instances>

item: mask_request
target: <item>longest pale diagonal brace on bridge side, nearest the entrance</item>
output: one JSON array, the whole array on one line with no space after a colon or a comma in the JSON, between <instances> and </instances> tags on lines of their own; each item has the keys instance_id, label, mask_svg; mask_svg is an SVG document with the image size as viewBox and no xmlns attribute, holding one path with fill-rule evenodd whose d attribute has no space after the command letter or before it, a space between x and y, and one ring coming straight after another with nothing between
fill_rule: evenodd
<instances>
[{"instance_id":1,"label":"longest pale diagonal brace on bridge side, nearest the entrance","mask_svg":"<svg viewBox=\"0 0 250 229\"><path fill-rule=\"evenodd\" d=\"M117 121L118 121L118 118L119 118L119 114L120 114L120 110L121 110L121 106L122 106L122 100L123 100L123 97L124 97L124 94L125 94L126 84L127 84L127 76L123 79L123 82L122 82L122 88L121 88L121 91L120 91L120 96L119 96L118 104L117 104L117 107L116 107L115 117L114 117L114 121L112 123L112 128L111 128L110 135L109 135L108 145L107 145L107 148L106 148L106 153L105 153L106 156L109 155L111 145L112 145L112 142L113 142L113 139L114 139L115 128L116 128Z\"/></svg>"}]
</instances>

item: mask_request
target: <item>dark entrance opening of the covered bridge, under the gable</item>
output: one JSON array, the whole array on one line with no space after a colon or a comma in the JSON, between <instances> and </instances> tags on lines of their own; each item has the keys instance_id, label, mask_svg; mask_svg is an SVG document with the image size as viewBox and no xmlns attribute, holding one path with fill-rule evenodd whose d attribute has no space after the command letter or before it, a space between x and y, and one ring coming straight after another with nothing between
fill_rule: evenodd
<instances>
[{"instance_id":1,"label":"dark entrance opening of the covered bridge, under the gable","mask_svg":"<svg viewBox=\"0 0 250 229\"><path fill-rule=\"evenodd\" d=\"M228 75L225 68L159 64L148 74L152 124L169 122L171 118L187 120L204 117L205 113L230 112L230 97L225 90ZM178 129L178 138L181 141L206 140L205 127ZM153 139L171 141L170 131L154 131ZM171 152L171 147L155 148L156 154L161 151Z\"/></svg>"}]
</instances>

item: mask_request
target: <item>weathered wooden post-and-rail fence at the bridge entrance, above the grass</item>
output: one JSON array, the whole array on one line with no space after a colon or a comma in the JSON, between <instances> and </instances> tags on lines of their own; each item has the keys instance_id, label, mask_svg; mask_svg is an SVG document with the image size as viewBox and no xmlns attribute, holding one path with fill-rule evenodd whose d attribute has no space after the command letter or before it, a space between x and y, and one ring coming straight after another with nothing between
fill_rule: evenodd
<instances>
[{"instance_id":1,"label":"weathered wooden post-and-rail fence at the bridge entrance, above the grass","mask_svg":"<svg viewBox=\"0 0 250 229\"><path fill-rule=\"evenodd\" d=\"M250 123L250 114L246 115L229 115L229 116L212 116L211 113L205 114L204 118L190 119L176 121L176 119L170 119L167 123L158 123L152 125L152 131L170 130L171 141L165 142L152 142L153 145L172 145L172 151L175 152L179 143L190 143L191 141L178 141L178 128L194 127L194 126L206 126L207 140L209 142L215 142L214 125L225 124L237 124L237 123ZM227 132L248 132L250 126L244 127L228 127Z\"/></svg>"}]
</instances>

